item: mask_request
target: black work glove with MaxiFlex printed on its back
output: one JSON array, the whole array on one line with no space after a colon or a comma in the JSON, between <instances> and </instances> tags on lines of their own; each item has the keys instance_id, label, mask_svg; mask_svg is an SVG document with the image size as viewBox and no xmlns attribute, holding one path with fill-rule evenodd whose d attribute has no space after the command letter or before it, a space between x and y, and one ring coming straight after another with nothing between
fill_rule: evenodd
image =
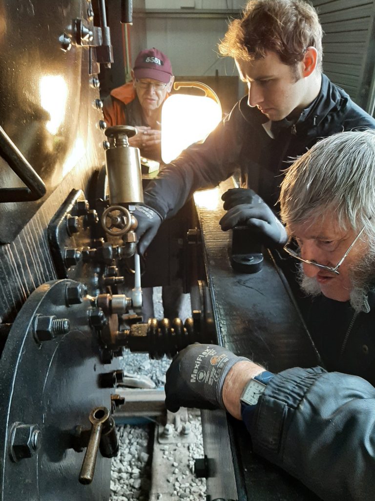
<instances>
[{"instance_id":1,"label":"black work glove with MaxiFlex printed on its back","mask_svg":"<svg viewBox=\"0 0 375 501\"><path fill-rule=\"evenodd\" d=\"M195 343L181 350L166 371L165 405L225 410L222 386L229 369L241 360L221 346Z\"/></svg>"}]
</instances>

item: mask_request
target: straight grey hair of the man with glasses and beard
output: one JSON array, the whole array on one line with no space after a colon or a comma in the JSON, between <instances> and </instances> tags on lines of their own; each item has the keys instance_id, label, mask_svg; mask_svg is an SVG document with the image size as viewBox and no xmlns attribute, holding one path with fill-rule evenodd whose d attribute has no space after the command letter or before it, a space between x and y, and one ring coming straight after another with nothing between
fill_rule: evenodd
<instances>
[{"instance_id":1,"label":"straight grey hair of the man with glasses and beard","mask_svg":"<svg viewBox=\"0 0 375 501\"><path fill-rule=\"evenodd\" d=\"M340 132L316 143L286 170L279 202L286 226L335 214L339 227L365 226L374 241L375 131Z\"/></svg>"}]
</instances>

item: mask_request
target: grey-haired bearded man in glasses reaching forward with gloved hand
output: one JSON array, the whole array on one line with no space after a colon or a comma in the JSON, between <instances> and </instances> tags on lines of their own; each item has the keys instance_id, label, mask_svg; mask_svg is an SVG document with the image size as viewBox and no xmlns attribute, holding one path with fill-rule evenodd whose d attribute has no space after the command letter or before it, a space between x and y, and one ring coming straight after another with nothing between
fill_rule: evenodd
<instances>
[{"instance_id":1,"label":"grey-haired bearded man in glasses reaching forward with gloved hand","mask_svg":"<svg viewBox=\"0 0 375 501\"><path fill-rule=\"evenodd\" d=\"M375 132L365 131L323 139L281 183L285 250L316 295L312 336L327 370L272 374L220 346L195 344L166 377L167 408L222 408L242 419L256 453L326 501L369 501L375 491L374 179ZM192 382L197 357L214 386Z\"/></svg>"}]
</instances>

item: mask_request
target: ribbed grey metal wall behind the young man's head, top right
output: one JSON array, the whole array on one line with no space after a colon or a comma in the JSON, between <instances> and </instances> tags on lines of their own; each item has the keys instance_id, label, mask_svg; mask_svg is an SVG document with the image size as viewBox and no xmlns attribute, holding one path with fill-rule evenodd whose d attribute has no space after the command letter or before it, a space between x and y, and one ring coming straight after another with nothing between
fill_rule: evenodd
<instances>
[{"instance_id":1,"label":"ribbed grey metal wall behind the young man's head, top right","mask_svg":"<svg viewBox=\"0 0 375 501\"><path fill-rule=\"evenodd\" d=\"M367 107L374 67L374 0L312 0L324 30L323 71Z\"/></svg>"}]
</instances>

